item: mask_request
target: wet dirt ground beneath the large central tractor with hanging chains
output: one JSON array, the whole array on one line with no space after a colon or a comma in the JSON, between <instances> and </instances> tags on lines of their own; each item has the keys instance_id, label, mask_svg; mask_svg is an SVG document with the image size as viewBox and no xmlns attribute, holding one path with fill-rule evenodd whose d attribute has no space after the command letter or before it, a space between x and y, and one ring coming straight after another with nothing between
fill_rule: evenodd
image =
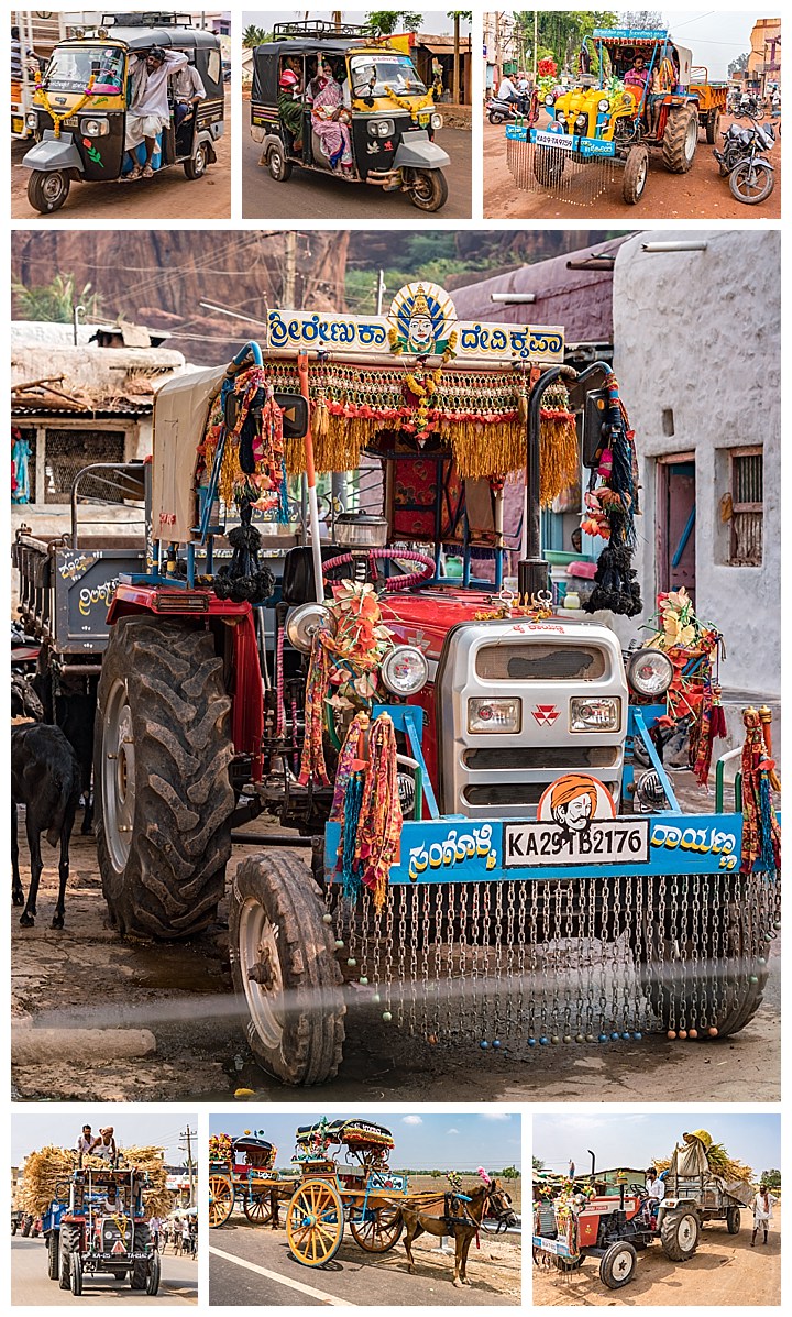
<instances>
[{"instance_id":1,"label":"wet dirt ground beneath the large central tractor with hanging chains","mask_svg":"<svg viewBox=\"0 0 792 1317\"><path fill-rule=\"evenodd\" d=\"M79 826L79 822L78 822ZM260 820L257 824L262 828ZM20 826L22 843L24 827ZM92 1044L66 1056L54 1047L45 1062L16 1064L17 1098L62 1101L228 1101L237 1089L257 1102L316 1102L314 1089L284 1090L247 1051L245 1015L235 1006L222 923L191 943L121 940L107 907L92 838L72 838L66 928L50 928L57 894L57 852L42 842L45 871L34 928L12 914L12 1025L147 1029L155 1055L125 1060ZM234 847L232 867L246 855ZM25 886L26 848L21 844ZM230 874L229 874L230 876ZM225 914L221 906L221 917ZM779 1100L780 956L774 943L764 1004L731 1039L709 1043L642 1042L574 1044L530 1051L522 1044L497 1056L475 1039L430 1046L383 1026L372 1008L350 1000L345 1062L321 1089L334 1102L362 1101L675 1101Z\"/></svg>"}]
</instances>

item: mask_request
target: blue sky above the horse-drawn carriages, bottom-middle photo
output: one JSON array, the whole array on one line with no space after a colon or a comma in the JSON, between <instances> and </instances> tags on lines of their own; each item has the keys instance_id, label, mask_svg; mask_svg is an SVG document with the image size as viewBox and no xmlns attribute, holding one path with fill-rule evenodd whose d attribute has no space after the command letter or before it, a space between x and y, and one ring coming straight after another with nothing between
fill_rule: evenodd
<instances>
[{"instance_id":1,"label":"blue sky above the horse-drawn carriages, bottom-middle photo","mask_svg":"<svg viewBox=\"0 0 792 1317\"><path fill-rule=\"evenodd\" d=\"M245 1115L225 1114L209 1117L210 1134L230 1134L235 1138L246 1130L259 1133L278 1148L278 1166L288 1167L295 1150L297 1125L313 1125L322 1115L329 1119L347 1119L354 1112L292 1112L276 1114L250 1109ZM360 1113L357 1113L360 1114ZM438 1171L475 1171L483 1166L501 1171L505 1166L521 1166L520 1117L492 1109L476 1115L455 1112L437 1115L366 1112L366 1119L391 1130L396 1147L391 1154L391 1168L412 1167Z\"/></svg>"}]
</instances>

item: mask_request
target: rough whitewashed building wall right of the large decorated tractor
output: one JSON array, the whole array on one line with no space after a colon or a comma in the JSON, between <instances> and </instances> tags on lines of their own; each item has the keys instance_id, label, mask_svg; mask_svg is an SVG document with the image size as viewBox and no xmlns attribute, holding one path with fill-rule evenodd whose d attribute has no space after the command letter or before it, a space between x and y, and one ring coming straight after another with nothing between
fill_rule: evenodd
<instances>
[{"instance_id":1,"label":"rough whitewashed building wall right of the large decorated tractor","mask_svg":"<svg viewBox=\"0 0 792 1317\"><path fill-rule=\"evenodd\" d=\"M705 252L643 244L706 241ZM626 242L613 281L614 371L635 429L645 616L656 593L656 460L696 454L696 611L726 641L724 687L780 693L780 233L651 230ZM674 435L663 412L674 412ZM666 417L667 428L668 417ZM728 449L764 449L760 566L729 566L720 500ZM634 623L617 619L626 640Z\"/></svg>"}]
</instances>

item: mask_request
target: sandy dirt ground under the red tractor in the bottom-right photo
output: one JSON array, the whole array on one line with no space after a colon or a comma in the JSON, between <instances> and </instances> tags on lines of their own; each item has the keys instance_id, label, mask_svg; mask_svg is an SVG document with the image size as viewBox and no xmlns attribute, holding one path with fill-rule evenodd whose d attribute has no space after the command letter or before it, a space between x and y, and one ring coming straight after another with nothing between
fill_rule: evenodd
<instances>
[{"instance_id":1,"label":"sandy dirt ground under the red tractor in the bottom-right photo","mask_svg":"<svg viewBox=\"0 0 792 1317\"><path fill-rule=\"evenodd\" d=\"M713 1308L778 1306L781 1301L780 1210L767 1246L751 1249L751 1213L742 1213L742 1230L730 1235L722 1223L704 1227L693 1258L684 1264L668 1262L659 1245L638 1254L635 1277L624 1289L606 1289L599 1277L596 1258L579 1271L562 1275L533 1267L534 1304L563 1308Z\"/></svg>"}]
</instances>

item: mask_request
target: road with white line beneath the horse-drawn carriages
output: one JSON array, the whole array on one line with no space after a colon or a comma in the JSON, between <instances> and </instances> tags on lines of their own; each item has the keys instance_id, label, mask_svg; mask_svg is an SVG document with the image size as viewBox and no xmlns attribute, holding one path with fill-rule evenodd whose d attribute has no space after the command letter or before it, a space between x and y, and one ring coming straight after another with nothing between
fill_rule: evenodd
<instances>
[{"instance_id":1,"label":"road with white line beneath the horse-drawn carriages","mask_svg":"<svg viewBox=\"0 0 792 1317\"><path fill-rule=\"evenodd\" d=\"M520 1304L518 1237L471 1247L467 1287L453 1287L453 1256L438 1241L413 1246L417 1275L407 1270L404 1246L370 1256L347 1235L326 1267L304 1267L288 1249L285 1231L228 1223L209 1239L209 1303L258 1306L495 1306ZM497 1251L496 1251L497 1250Z\"/></svg>"}]
</instances>

